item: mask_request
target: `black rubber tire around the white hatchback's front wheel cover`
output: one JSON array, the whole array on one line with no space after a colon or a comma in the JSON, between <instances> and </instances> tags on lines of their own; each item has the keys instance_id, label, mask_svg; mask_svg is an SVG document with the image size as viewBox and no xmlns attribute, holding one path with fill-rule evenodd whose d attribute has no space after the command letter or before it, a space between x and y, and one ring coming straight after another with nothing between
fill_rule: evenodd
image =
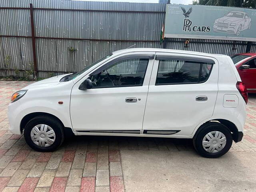
<instances>
[{"instance_id":1,"label":"black rubber tire around the white hatchback's front wheel cover","mask_svg":"<svg viewBox=\"0 0 256 192\"><path fill-rule=\"evenodd\" d=\"M50 126L55 132L55 141L52 145L47 147L41 147L36 145L30 136L31 130L34 126L38 124L46 124ZM32 118L24 128L24 138L26 143L34 150L39 152L52 152L56 150L64 141L64 131L63 126L56 118L51 116L36 116Z\"/></svg>"}]
</instances>

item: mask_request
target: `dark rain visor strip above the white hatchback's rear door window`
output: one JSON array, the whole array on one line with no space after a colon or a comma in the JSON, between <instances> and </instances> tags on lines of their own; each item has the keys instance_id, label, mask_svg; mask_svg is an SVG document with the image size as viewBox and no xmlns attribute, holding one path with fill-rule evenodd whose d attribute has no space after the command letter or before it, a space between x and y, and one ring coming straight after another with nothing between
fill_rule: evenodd
<instances>
[{"instance_id":1,"label":"dark rain visor strip above the white hatchback's rear door window","mask_svg":"<svg viewBox=\"0 0 256 192\"><path fill-rule=\"evenodd\" d=\"M183 57L183 56L166 56L166 55L156 55L156 60L182 60L182 61L192 61L192 62L203 62L215 64L214 60L197 58L197 57Z\"/></svg>"}]
</instances>

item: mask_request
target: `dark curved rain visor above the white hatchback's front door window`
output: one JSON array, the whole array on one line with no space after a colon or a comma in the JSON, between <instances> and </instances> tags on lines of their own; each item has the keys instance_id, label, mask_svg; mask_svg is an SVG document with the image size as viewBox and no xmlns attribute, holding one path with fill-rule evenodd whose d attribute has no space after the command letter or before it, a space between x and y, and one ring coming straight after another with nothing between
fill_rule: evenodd
<instances>
[{"instance_id":1,"label":"dark curved rain visor above the white hatchback's front door window","mask_svg":"<svg viewBox=\"0 0 256 192\"><path fill-rule=\"evenodd\" d=\"M96 74L102 72L103 70L105 70L106 68L108 68L109 66L111 66L112 64L115 64L116 62L120 62L122 60L127 60L127 59L154 59L154 56L155 55L152 55L152 54L134 54L134 55L121 56L121 57L118 57L118 58L106 63L104 66L96 69L89 76L96 75Z\"/></svg>"}]
</instances>

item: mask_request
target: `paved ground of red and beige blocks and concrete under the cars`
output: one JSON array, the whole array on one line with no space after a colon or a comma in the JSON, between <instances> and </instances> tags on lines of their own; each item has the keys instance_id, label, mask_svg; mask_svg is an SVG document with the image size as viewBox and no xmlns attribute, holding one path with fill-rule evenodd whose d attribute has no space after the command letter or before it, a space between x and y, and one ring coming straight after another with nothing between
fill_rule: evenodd
<instances>
[{"instance_id":1,"label":"paved ground of red and beige blocks and concrete under the cars","mask_svg":"<svg viewBox=\"0 0 256 192\"><path fill-rule=\"evenodd\" d=\"M162 138L80 136L40 153L8 131L10 96L29 83L0 81L0 192L256 191L256 94L244 139L218 159L198 156L191 140Z\"/></svg>"}]
</instances>

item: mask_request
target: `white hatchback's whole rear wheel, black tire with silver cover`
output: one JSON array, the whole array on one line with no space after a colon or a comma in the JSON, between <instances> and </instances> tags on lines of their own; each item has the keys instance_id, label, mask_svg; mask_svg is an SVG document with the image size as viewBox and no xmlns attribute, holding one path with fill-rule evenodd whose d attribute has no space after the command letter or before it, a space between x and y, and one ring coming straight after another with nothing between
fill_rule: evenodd
<instances>
[{"instance_id":1,"label":"white hatchback's whole rear wheel, black tire with silver cover","mask_svg":"<svg viewBox=\"0 0 256 192\"><path fill-rule=\"evenodd\" d=\"M193 138L193 143L196 151L201 156L218 158L230 149L232 134L223 124L209 122L200 128Z\"/></svg>"}]
</instances>

